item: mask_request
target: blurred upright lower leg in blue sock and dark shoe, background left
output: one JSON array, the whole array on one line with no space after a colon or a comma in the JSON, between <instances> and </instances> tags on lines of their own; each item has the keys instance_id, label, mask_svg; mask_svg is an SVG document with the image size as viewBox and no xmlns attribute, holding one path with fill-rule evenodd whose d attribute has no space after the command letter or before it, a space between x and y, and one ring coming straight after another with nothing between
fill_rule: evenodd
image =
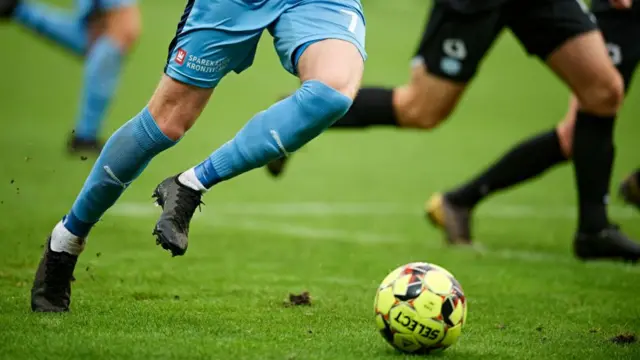
<instances>
[{"instance_id":1,"label":"blurred upright lower leg in blue sock and dark shoe, background left","mask_svg":"<svg viewBox=\"0 0 640 360\"><path fill-rule=\"evenodd\" d=\"M101 3L97 29L90 36L84 85L70 151L100 151L98 132L116 91L122 63L140 34L140 11L133 0Z\"/></svg>"}]
</instances>

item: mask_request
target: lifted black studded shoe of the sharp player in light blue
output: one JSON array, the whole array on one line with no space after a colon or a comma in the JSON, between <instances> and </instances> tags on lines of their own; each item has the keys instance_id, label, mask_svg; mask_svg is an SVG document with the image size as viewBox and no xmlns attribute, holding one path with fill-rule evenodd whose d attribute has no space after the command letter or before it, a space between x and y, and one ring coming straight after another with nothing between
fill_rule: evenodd
<instances>
[{"instance_id":1,"label":"lifted black studded shoe of the sharp player in light blue","mask_svg":"<svg viewBox=\"0 0 640 360\"><path fill-rule=\"evenodd\" d=\"M156 244L173 256L184 255L189 243L189 223L202 204L202 193L180 184L176 175L161 182L153 197L162 206L162 215L153 229Z\"/></svg>"}]
</instances>

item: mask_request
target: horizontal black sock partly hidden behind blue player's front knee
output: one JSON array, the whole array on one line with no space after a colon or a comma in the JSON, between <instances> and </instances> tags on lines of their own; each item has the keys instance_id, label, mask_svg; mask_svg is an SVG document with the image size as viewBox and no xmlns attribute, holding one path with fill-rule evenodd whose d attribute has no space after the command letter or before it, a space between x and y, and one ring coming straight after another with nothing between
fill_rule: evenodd
<instances>
[{"instance_id":1,"label":"horizontal black sock partly hidden behind blue player's front knee","mask_svg":"<svg viewBox=\"0 0 640 360\"><path fill-rule=\"evenodd\" d=\"M349 111L331 128L363 128L375 125L398 126L393 109L393 89L360 89Z\"/></svg>"}]
</instances>

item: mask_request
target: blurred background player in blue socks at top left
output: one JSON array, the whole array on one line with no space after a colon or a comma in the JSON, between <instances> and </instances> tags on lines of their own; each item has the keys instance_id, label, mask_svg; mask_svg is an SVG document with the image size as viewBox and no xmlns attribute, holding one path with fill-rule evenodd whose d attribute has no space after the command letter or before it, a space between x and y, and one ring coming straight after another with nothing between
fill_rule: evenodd
<instances>
[{"instance_id":1,"label":"blurred background player in blue socks at top left","mask_svg":"<svg viewBox=\"0 0 640 360\"><path fill-rule=\"evenodd\" d=\"M84 58L84 83L71 152L99 153L98 134L116 91L122 62L140 33L136 0L76 0L74 10L42 2L0 0L0 17L11 19Z\"/></svg>"}]
</instances>

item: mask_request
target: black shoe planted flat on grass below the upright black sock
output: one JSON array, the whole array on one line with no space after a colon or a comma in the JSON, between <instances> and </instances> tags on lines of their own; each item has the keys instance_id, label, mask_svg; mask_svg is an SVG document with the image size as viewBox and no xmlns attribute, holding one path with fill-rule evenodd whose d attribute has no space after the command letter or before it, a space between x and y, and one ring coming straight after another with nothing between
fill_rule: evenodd
<instances>
[{"instance_id":1,"label":"black shoe planted flat on grass below the upright black sock","mask_svg":"<svg viewBox=\"0 0 640 360\"><path fill-rule=\"evenodd\" d=\"M615 225L598 233L578 233L573 251L581 260L609 259L635 263L640 259L640 244L629 239Z\"/></svg>"}]
</instances>

